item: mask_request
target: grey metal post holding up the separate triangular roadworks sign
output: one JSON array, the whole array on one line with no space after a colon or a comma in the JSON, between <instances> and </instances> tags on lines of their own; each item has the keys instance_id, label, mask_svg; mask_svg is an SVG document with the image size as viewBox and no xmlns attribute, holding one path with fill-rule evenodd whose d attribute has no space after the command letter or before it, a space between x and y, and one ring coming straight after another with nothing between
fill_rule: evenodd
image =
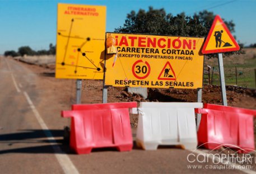
<instances>
[{"instance_id":1,"label":"grey metal post holding up the separate triangular roadworks sign","mask_svg":"<svg viewBox=\"0 0 256 174\"><path fill-rule=\"evenodd\" d=\"M224 65L223 65L222 53L218 53L218 69L220 69L222 104L224 106L227 106L226 84L225 84Z\"/></svg>"}]
</instances>

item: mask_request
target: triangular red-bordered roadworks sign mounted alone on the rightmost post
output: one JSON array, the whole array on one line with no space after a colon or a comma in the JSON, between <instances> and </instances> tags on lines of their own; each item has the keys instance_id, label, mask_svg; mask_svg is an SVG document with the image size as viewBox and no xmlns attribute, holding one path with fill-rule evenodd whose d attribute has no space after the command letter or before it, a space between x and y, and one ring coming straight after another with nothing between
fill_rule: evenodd
<instances>
[{"instance_id":1,"label":"triangular red-bordered roadworks sign mounted alone on the rightmost post","mask_svg":"<svg viewBox=\"0 0 256 174\"><path fill-rule=\"evenodd\" d=\"M223 53L228 51L238 51L240 49L234 37L231 35L220 16L216 16L207 39L203 45L202 53Z\"/></svg>"}]
</instances>

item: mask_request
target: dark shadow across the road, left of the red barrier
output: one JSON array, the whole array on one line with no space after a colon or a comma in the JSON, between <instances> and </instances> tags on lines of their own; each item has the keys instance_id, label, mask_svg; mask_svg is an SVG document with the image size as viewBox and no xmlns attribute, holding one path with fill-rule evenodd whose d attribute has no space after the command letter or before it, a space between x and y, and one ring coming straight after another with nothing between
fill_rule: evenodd
<instances>
[{"instance_id":1,"label":"dark shadow across the road, left of the red barrier","mask_svg":"<svg viewBox=\"0 0 256 174\"><path fill-rule=\"evenodd\" d=\"M53 140L48 139L46 134L51 133ZM60 147L66 154L73 154L69 145L63 139L63 130L20 130L19 133L1 134L0 144L5 153L56 153L53 149ZM7 148L6 148L7 147Z\"/></svg>"}]
</instances>

